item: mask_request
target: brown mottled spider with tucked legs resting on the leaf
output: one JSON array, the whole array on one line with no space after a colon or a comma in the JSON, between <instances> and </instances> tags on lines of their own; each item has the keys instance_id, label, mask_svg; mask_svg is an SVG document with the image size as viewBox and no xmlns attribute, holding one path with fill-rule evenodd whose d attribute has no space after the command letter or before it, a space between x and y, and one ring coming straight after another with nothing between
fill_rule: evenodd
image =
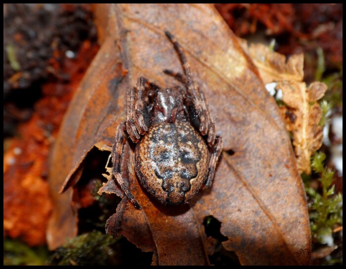
<instances>
[{"instance_id":1,"label":"brown mottled spider with tucked legs resting on the leaf","mask_svg":"<svg viewBox=\"0 0 346 269\"><path fill-rule=\"evenodd\" d=\"M121 162L127 136L136 143L136 176L156 200L164 205L188 203L204 187L211 187L222 149L221 137L210 116L203 92L193 80L179 43L169 32L182 64L184 76L170 70L184 87L162 89L144 77L128 91L127 119L117 128L112 149L112 173L130 202L140 208L123 178Z\"/></svg>"}]
</instances>

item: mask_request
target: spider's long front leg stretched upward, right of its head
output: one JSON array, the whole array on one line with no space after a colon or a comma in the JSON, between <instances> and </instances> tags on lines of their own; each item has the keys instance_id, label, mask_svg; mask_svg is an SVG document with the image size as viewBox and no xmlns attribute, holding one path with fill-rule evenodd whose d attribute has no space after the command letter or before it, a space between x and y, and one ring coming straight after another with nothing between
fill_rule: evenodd
<instances>
[{"instance_id":1,"label":"spider's long front leg stretched upward, right of its head","mask_svg":"<svg viewBox=\"0 0 346 269\"><path fill-rule=\"evenodd\" d=\"M196 125L196 128L199 129L202 135L208 134L208 143L210 145L214 144L215 137L216 137L216 131L215 131L215 124L212 120L209 109L206 104L206 99L204 97L203 92L198 88L197 84L192 78L192 73L190 70L190 65L186 60L185 54L179 45L179 43L176 41L176 39L173 37L173 35L170 32L165 32L166 36L170 39L172 42L175 51L177 52L182 67L184 69L184 73L186 78L185 85L187 88L188 95L191 96L192 103L193 103L193 109L192 112L193 117L197 115L198 120L194 119L194 124ZM166 72L165 72L166 73ZM174 74L173 72L168 72L169 75ZM166 73L167 74L167 73ZM173 75L174 76L174 75ZM179 75L175 73L175 76L179 80Z\"/></svg>"}]
</instances>

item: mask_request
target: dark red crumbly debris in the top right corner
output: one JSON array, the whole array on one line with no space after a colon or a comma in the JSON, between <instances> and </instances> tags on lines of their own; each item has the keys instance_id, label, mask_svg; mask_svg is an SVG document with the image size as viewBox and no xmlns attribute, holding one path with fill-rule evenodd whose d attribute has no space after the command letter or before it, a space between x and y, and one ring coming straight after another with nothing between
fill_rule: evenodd
<instances>
[{"instance_id":1,"label":"dark red crumbly debris in the top right corner","mask_svg":"<svg viewBox=\"0 0 346 269\"><path fill-rule=\"evenodd\" d=\"M314 57L323 49L328 67L343 63L343 4L216 4L234 33L254 34L260 25L276 38L278 52L307 52Z\"/></svg>"}]
</instances>

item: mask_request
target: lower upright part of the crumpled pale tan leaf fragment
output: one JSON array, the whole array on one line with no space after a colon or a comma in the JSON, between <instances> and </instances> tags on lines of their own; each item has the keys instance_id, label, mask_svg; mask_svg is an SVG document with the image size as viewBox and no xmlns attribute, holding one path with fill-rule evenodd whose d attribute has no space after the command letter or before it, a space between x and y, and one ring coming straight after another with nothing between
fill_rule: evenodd
<instances>
[{"instance_id":1,"label":"lower upright part of the crumpled pale tan leaf fragment","mask_svg":"<svg viewBox=\"0 0 346 269\"><path fill-rule=\"evenodd\" d=\"M310 157L322 146L323 126L319 125L322 112L316 101L323 97L327 85L313 82L306 89L304 82L282 80L277 83L282 90L283 101L288 107L281 107L285 115L287 130L292 132L293 146L299 171L311 173Z\"/></svg>"}]
</instances>

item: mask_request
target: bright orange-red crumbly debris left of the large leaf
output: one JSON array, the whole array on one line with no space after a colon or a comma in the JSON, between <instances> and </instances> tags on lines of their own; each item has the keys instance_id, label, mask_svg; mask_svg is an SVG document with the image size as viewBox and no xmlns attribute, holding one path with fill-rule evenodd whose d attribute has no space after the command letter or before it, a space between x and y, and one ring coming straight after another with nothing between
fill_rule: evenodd
<instances>
[{"instance_id":1,"label":"bright orange-red crumbly debris left of the large leaf","mask_svg":"<svg viewBox=\"0 0 346 269\"><path fill-rule=\"evenodd\" d=\"M29 245L45 243L51 209L46 181L49 150L73 92L97 49L85 41L76 60L66 59L62 72L69 72L70 82L44 84L43 98L37 102L34 114L18 127L20 137L10 140L3 163L4 236L20 236Z\"/></svg>"}]
</instances>

